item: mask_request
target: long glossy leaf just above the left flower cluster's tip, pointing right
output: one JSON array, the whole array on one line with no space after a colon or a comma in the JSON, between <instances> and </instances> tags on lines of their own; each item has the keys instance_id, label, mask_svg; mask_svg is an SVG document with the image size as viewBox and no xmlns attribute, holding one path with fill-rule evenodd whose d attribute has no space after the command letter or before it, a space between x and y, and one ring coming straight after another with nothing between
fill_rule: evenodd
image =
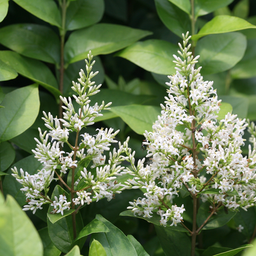
<instances>
[{"instance_id":1,"label":"long glossy leaf just above the left flower cluster's tip, pointing right","mask_svg":"<svg viewBox=\"0 0 256 256\"><path fill-rule=\"evenodd\" d=\"M96 24L90 28L74 31L65 44L67 64L87 58L89 51L94 56L109 54L151 35L149 31L115 24Z\"/></svg>"}]
</instances>

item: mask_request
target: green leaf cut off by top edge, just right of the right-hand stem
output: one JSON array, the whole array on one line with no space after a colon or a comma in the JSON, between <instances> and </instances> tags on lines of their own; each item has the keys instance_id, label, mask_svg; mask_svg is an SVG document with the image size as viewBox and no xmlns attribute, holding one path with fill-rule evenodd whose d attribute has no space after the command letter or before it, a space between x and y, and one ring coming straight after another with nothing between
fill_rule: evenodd
<instances>
[{"instance_id":1,"label":"green leaf cut off by top edge, just right of the right-hand stem","mask_svg":"<svg viewBox=\"0 0 256 256\"><path fill-rule=\"evenodd\" d=\"M225 7L234 0L195 0L195 16L206 15L215 10Z\"/></svg>"}]
</instances>

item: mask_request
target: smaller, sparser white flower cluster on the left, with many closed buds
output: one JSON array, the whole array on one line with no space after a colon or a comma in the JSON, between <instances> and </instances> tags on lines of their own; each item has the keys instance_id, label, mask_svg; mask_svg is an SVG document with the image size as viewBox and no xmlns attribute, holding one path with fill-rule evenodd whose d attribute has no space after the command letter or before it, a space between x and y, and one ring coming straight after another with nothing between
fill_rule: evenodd
<instances>
[{"instance_id":1,"label":"smaller, sparser white flower cluster on the left, with many closed buds","mask_svg":"<svg viewBox=\"0 0 256 256\"><path fill-rule=\"evenodd\" d=\"M92 58L90 52L88 61L85 60L86 74L81 70L79 83L73 81L72 90L77 93L73 97L79 105L77 113L72 99L61 96L60 99L64 104L62 108L65 109L63 118L54 118L51 113L43 112L42 119L49 131L42 132L40 128L38 129L40 140L35 138L37 145L35 150L32 150L38 161L42 163L42 170L35 175L29 175L27 172L24 174L20 169L19 175L17 168L12 169L12 175L24 186L21 190L26 193L28 202L28 205L24 206L24 211L31 210L35 213L36 209L42 209L43 204L51 204L54 209L52 213L60 212L63 215L64 210L70 209L70 204L73 206L90 204L92 198L97 201L104 197L111 200L115 193L121 192L116 176L121 175L120 172L124 170L120 164L127 159L127 156L122 154L129 150L127 145L129 138L124 143L125 147L119 143L119 149L114 148L113 152L109 152L107 159L104 151L109 151L111 143L117 142L114 138L118 131L113 132L112 128L97 129L97 134L94 136L81 132L83 127L94 124L95 117L102 115L100 111L108 109L111 104L109 102L105 105L102 102L100 106L89 105L89 97L99 93L101 86L101 84L96 86L95 82L91 81L92 77L98 73L92 72L92 66L95 63L95 61L92 62ZM76 145L71 145L68 141L70 132L76 132ZM63 150L65 144L70 148L69 152ZM88 170L90 168L92 171ZM69 172L72 172L74 184L69 184L70 182L67 184L64 181L65 174ZM54 196L55 200L52 201L47 195L52 180L58 179L71 193L72 202L67 202L67 198L63 195L59 198Z\"/></svg>"}]
</instances>

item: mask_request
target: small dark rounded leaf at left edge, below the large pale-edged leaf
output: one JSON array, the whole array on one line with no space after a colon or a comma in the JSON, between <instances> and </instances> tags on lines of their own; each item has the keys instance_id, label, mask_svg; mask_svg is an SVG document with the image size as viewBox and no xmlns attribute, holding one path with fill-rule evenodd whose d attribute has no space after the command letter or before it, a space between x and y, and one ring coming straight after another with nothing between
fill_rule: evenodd
<instances>
[{"instance_id":1,"label":"small dark rounded leaf at left edge, below the large pale-edged leaf","mask_svg":"<svg viewBox=\"0 0 256 256\"><path fill-rule=\"evenodd\" d=\"M15 150L8 141L0 143L0 171L3 172L9 168L15 159Z\"/></svg>"}]
</instances>

